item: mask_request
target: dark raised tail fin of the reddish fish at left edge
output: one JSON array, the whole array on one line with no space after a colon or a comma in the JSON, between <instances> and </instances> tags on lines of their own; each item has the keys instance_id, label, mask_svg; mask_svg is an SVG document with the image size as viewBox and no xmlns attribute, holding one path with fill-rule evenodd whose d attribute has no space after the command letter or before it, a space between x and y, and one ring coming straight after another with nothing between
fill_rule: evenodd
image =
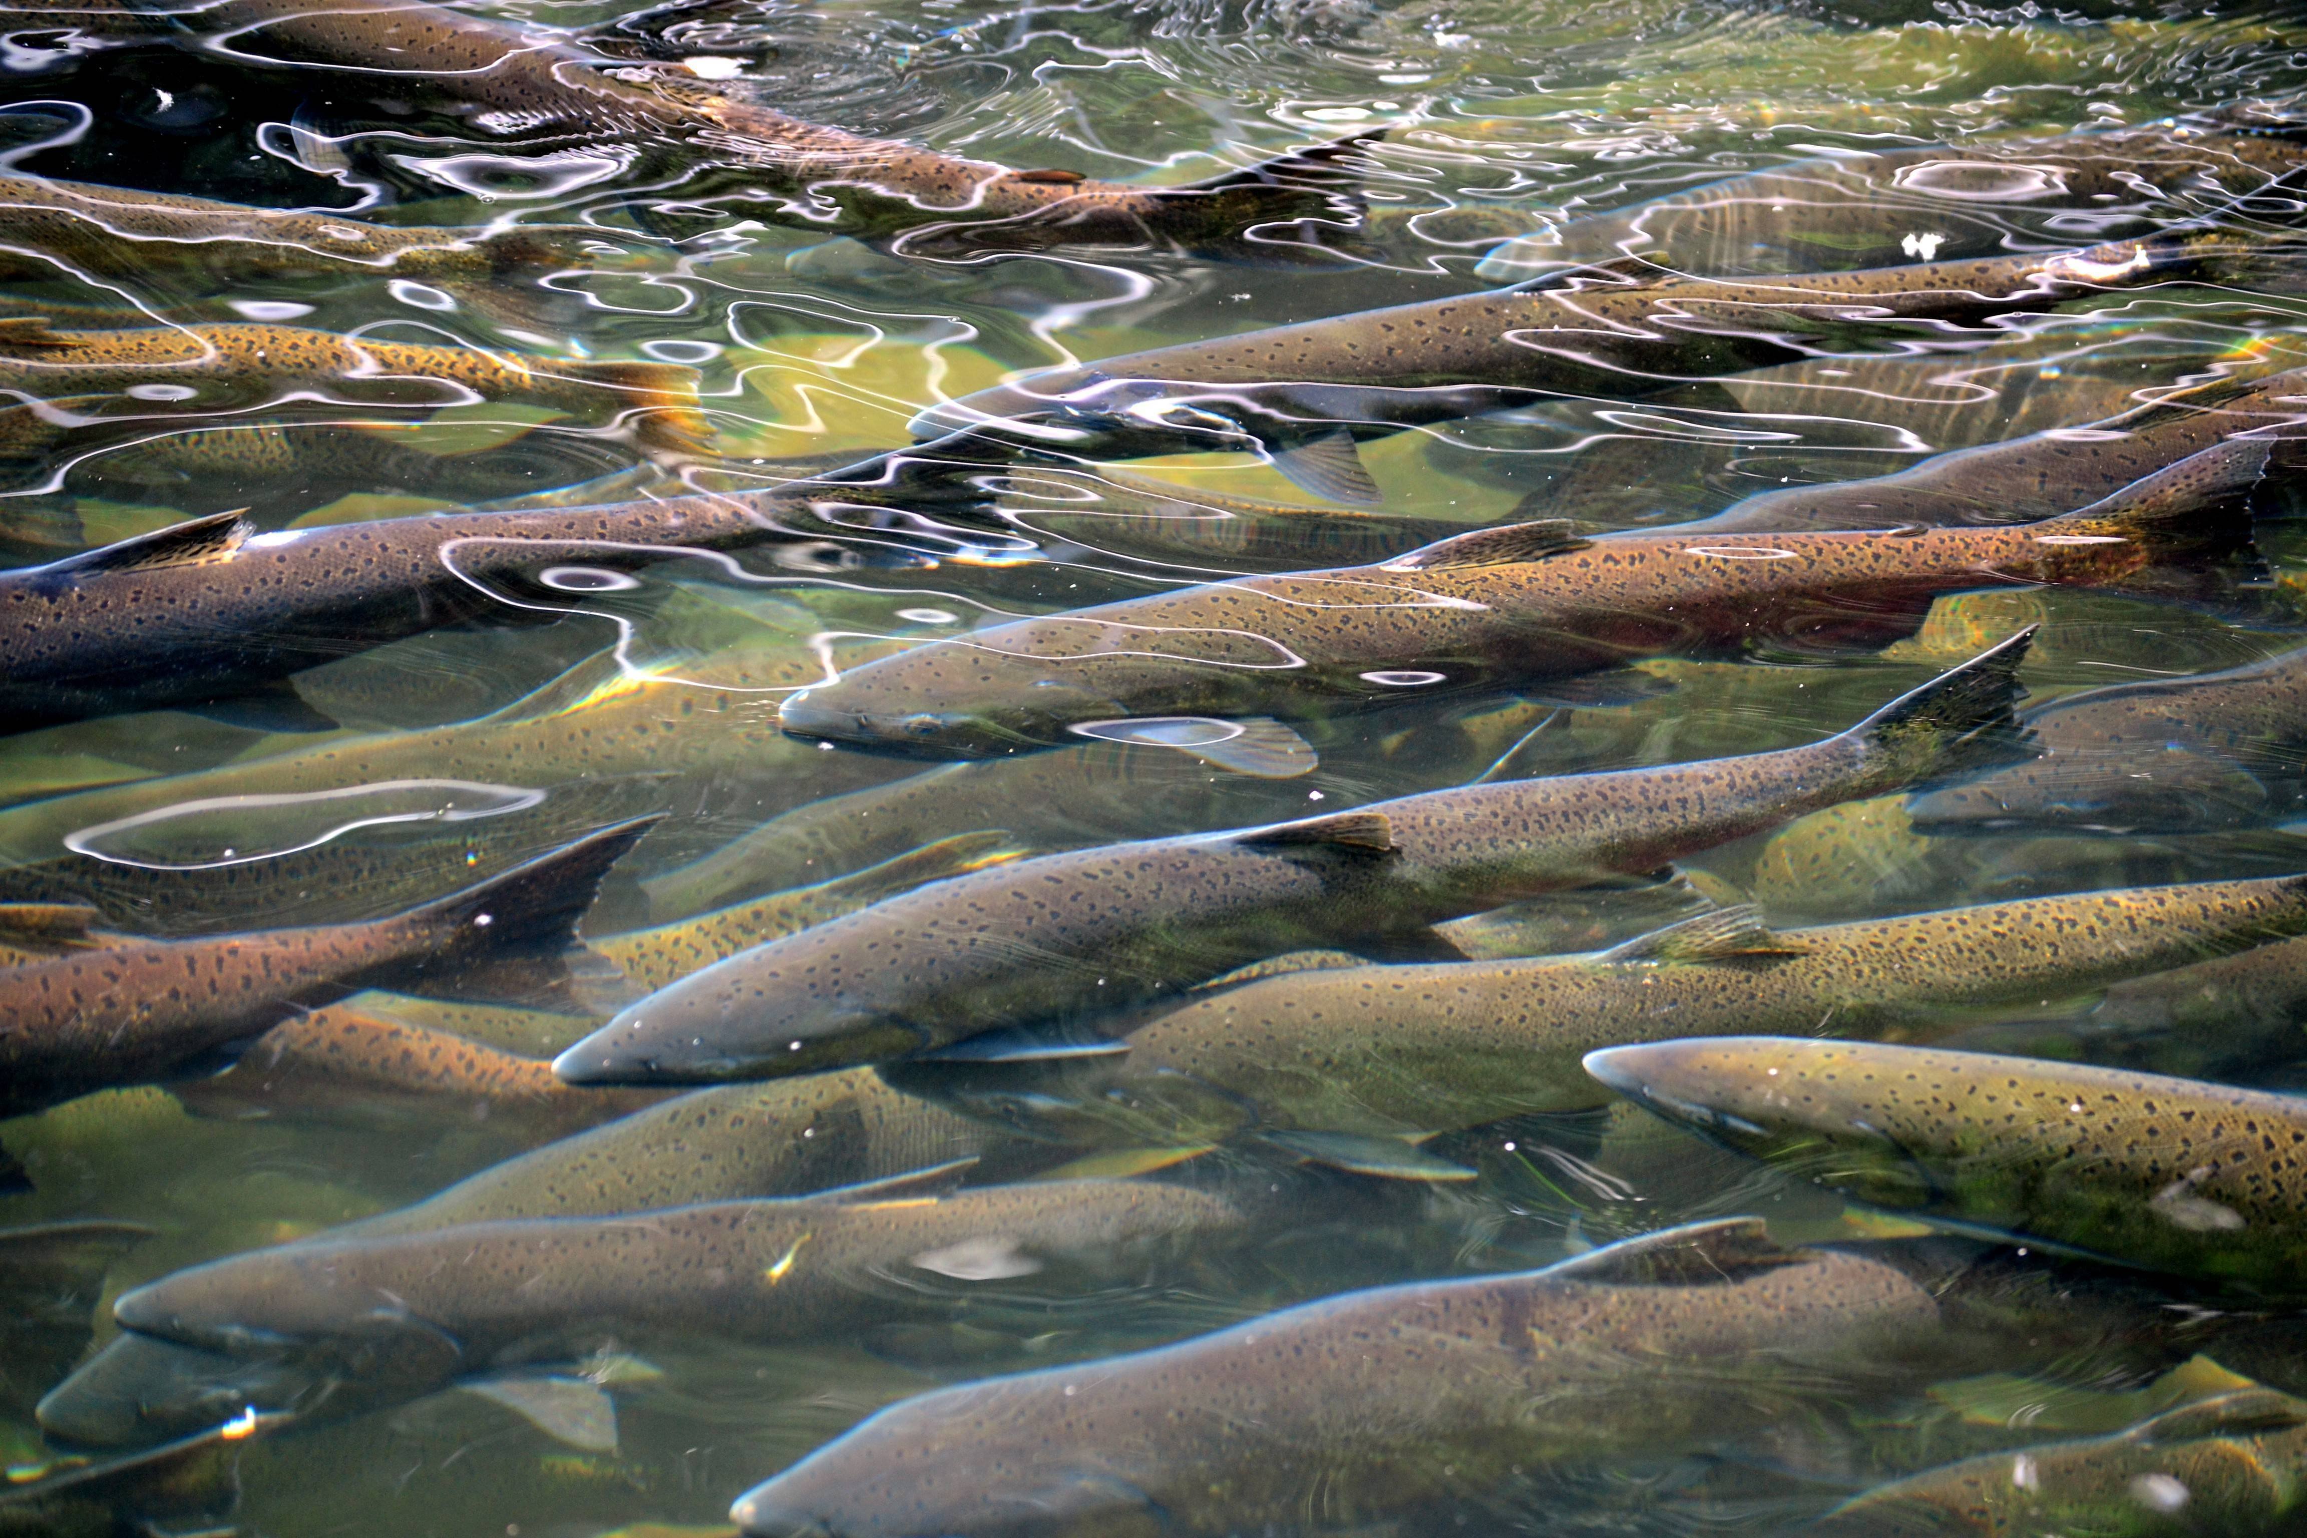
<instances>
[{"instance_id":1,"label":"dark raised tail fin of the reddish fish at left edge","mask_svg":"<svg viewBox=\"0 0 2307 1538\"><path fill-rule=\"evenodd\" d=\"M577 920L600 895L609 867L662 816L598 828L475 888L429 902L406 915L438 936L411 975L392 985L413 994L464 994L528 1001L568 982L568 957L581 950Z\"/></svg>"}]
</instances>

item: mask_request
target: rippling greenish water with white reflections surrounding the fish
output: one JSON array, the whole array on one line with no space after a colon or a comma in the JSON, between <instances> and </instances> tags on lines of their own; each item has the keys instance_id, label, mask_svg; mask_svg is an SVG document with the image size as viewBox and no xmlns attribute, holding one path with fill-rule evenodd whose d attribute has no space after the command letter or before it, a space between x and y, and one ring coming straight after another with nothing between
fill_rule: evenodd
<instances>
[{"instance_id":1,"label":"rippling greenish water with white reflections surrounding the fish","mask_svg":"<svg viewBox=\"0 0 2307 1538\"><path fill-rule=\"evenodd\" d=\"M351 643L360 625L348 623L344 655L298 671L293 699L28 719L0 740L0 899L95 909L62 920L18 911L0 929L12 959L48 952L58 922L67 934L95 922L203 938L376 920L644 814L664 821L616 862L584 915L584 934L607 955L618 955L609 936L835 883L761 904L717 938L628 943L630 978L669 982L741 938L773 938L1010 858L1343 812L1486 775L1816 742L2026 625L2039 625L2023 666L2030 706L2235 669L2300 643L2295 611L2279 602L2300 579L2295 526L2268 517L2256 530L2263 567L2240 588L2182 595L2194 602L2086 586L1954 593L1913 634L1878 636L1885 646L1666 648L1585 692L1513 678L1511 666L1467 680L1412 666L1456 671L1453 659L1391 659L1382 678L1363 673L1387 685L1384 699L1297 715L1290 726L1303 745L1260 749L1257 772L1223 759L1246 747L1227 749L1232 726L1209 722L1098 724L1059 754L962 768L805 742L775 722L782 699L842 669L1017 616L1380 560L1516 517L1569 519L1587 537L1666 528L1758 491L1892 475L1933 452L2099 422L2182 385L2300 367L2295 205L2277 194L2231 208L2252 178L2201 134L2169 131L2219 113L2275 122L2298 101L2307 32L2291 7L881 0L487 14L591 28L602 48L623 48L618 58L639 58L639 39L653 37L655 58L692 60L738 99L1022 168L1190 182L1292 145L1373 129L1384 141L1354 159L1363 226L1317 224L1301 231L1303 244L1001 249L957 238L891 251L886 240L840 235L828 208L814 224L784 217L743 164L669 154L662 136L482 120L422 78L249 65L187 46L187 32L120 35L99 12L28 5L9 16L0 81L12 175L378 224L584 226L586 238L496 274L420 277L330 263L275 270L254 261L263 247L233 242L111 240L97 251L0 219L12 254L5 314L42 316L62 332L293 325L547 360L542 376L602 360L694 374L660 371L651 387L671 397L646 397L505 374L448 385L424 367L293 371L268 357L258 369L161 369L134 387L115 378L81 392L44 383L53 376L37 371L39 334L18 327L0 337L7 390L25 404L9 415L39 420L9 424L16 436L0 463L9 563L55 560L228 507L277 533L773 489L902 447L923 408L1020 371L1474 293L1564 256L1601 261L1624 238L1622 226L1596 226L1601 214L1820 157L1919 145L1952 145L1945 159L2000 154L1972 180L1924 166L1866 187L1811 171L1820 191L1806 194L1816 205L1790 221L1793 233L1769 219L1723 238L1686 231L1684 244L1666 238L1668 261L1703 274L1823 272L1942 244L2058 251L2189 219L2249 238L2256 254L2201 281L2069 293L1993 318L1829 327L1811 332L1811 357L1663 394L1636 399L1631 385L1527 394L1506 410L1370 438L1361 459L1382 493L1377 514L1250 519L1255 540L1239 537L1241 519L1209 533L1225 523L1211 514L1239 498L1301 507L1317 498L1237 445L1130 461L1140 480L1119 487L1064 454L978 466L971 475L999 491L997 512L902 496L893 517L886 498L835 496L796 526L794 542L667 551L653 563L579 544L549 570L475 576L473 623L381 646ZM2079 191L2076 157L2104 141L2058 136L2122 129L2157 138L2122 141L2136 148L2111 191ZM2076 187L2044 191L2060 178ZM694 415L681 417L690 380ZM35 401L46 401L42 413ZM664 433L648 422L681 427ZM964 482L955 473L939 484ZM1160 517L1144 517L1163 487L1209 505L1154 500ZM2282 514L2295 491L2277 475L2254 498ZM1183 701L1130 715L1202 713ZM2247 736L2268 731L2254 722ZM2259 754L2249 770L2196 800L2173 791L2169 819L2081 816L1954 837L1917 828L1901 796L1876 796L1700 849L1677 860L1675 883L1626 872L1463 918L1446 934L1472 957L1557 955L1601 950L1707 902L1756 902L1769 922L1795 927L2286 874L2300 867L2298 740L2293 726L2256 749L2229 742ZM2155 768L2141 763L2139 772ZM641 1098L554 1088L538 1065L646 992L607 962L581 973L568 989L528 989L519 1008L383 987L323 1017L344 1021L353 1042L378 1040L390 1028L378 1021L484 1042L526 1058L508 1070L526 1075L519 1084L459 1079L454 1065L427 1084L390 1054L374 1072L300 1079L279 1068L284 1038L272 1038L219 1077L203 1077L212 1061L178 1065L166 1086L78 1095L0 1125L28 1178L0 1197L0 1227L104 1217L150 1229L97 1245L92 1261L60 1277L0 1282L21 1310L21 1328L0 1337L12 1478L32 1480L55 1457L108 1455L44 1441L32 1404L83 1351L115 1337L108 1305L122 1291L392 1213L634 1111ZM2242 985L2247 996L2205 994L2185 1031L2157 1028L2162 1017L2134 1001L2148 1026L2120 1040L2090 1026L2099 1017L2088 1015L2088 989L1926 1010L1910 1038L2291 1088L2300 1063L2282 989L2277 978ZM745 1490L934 1386L1096 1360L1359 1287L1504 1275L1703 1217L1763 1215L1788 1245L1896 1243L1917 1231L1848 1204L1799 1167L1746 1160L1629 1105L1451 1125L1419 1146L1472 1174L1449 1181L1345 1174L1255 1137L1216 1151L1156 1134L1082 1148L990 1123L953 1123L964 1128L955 1132L950 1118L867 1158L863 1116L835 1107L773 1132L724 1132L715 1148L660 1148L653 1162L611 1153L609 1167L641 1185L687 1181L681 1190L694 1199L801 1194L980 1153L974 1183L1142 1169L1223 1194L1250 1222L1117 1266L1073 1257L1017 1268L999 1245L948 1271L897 1254L849 1275L854 1310L798 1340L611 1326L579 1330L574 1349L593 1356L572 1367L574 1337L540 1335L487 1372L521 1360L563 1377L593 1372L616 1404L614 1443L595 1434L574 1446L461 1390L383 1395L369 1409L339 1400L242 1443L228 1522L346 1536L727 1531L729 1503ZM784 1144L768 1146L798 1139L801 1123L810 1137L849 1141L814 1164L824 1146L794 1141L791 1158L777 1153ZM1400 1148L1410 1160L1410 1144ZM713 1169L747 1160L754 1174L706 1190L720 1178ZM662 1181L653 1190L669 1190ZM625 1208L595 1197L588 1211ZM1809 1377L1753 1386L1714 1434L1686 1446L1629 1420L1606 1457L1539 1457L1440 1513L1363 1513L1329 1526L1790 1531L1880 1480L2120 1430L2226 1386L2201 1367L2194 1379L2169 1377L2196 1351L2307 1390L2295 1321L2279 1300L2235 1305L2199 1282L2090 1273L2044 1303L2028 1289L2083 1273L2051 1271L2056 1261L2032 1250L1977 1254L2000 1257L2019 1277L1996 1284L2026 1298L2009 1312L2039 1310L2042 1337L2058 1337L2035 1356L1956 1354L1906 1374L1866 1356L1813 1363ZM1991 1287L1984 1314L1996 1296ZM1419 1434L1414 1420L1403 1430ZM143 1427L129 1441L157 1437ZM127 1499L122 1520L150 1501ZM1324 1531L1308 1515L1317 1508L1308 1490L1299 1520ZM171 1531L212 1522L150 1510ZM1239 1520L1243 1531L1269 1526L1250 1508ZM67 1531L39 1522L35 1531ZM2217 1531L2270 1524L2252 1517Z\"/></svg>"}]
</instances>

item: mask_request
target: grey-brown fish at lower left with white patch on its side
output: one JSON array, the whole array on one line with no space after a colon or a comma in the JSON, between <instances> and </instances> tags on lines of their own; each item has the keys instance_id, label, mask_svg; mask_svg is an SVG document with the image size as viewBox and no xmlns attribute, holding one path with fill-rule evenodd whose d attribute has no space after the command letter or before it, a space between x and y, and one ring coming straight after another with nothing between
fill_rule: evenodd
<instances>
[{"instance_id":1,"label":"grey-brown fish at lower left with white patch on its side","mask_svg":"<svg viewBox=\"0 0 2307 1538\"><path fill-rule=\"evenodd\" d=\"M514 1217L390 1238L307 1238L120 1294L113 1319L178 1344L279 1347L415 1397L558 1342L801 1342L944 1307L946 1280L1114 1275L1239 1231L1223 1197L1147 1181L941 1190L939 1167L810 1197L614 1217ZM895 1275L937 1287L930 1300ZM390 1298L390 1310L378 1300Z\"/></svg>"}]
</instances>

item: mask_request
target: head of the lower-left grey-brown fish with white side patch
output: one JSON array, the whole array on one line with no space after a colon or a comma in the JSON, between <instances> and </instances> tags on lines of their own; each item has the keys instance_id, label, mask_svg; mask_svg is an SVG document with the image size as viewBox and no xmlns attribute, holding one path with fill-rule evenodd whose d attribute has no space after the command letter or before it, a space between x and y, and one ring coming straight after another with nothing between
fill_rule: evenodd
<instances>
[{"instance_id":1,"label":"head of the lower-left grey-brown fish with white side patch","mask_svg":"<svg viewBox=\"0 0 2307 1538\"><path fill-rule=\"evenodd\" d=\"M113 1300L125 1330L242 1360L422 1393L464 1372L464 1349L365 1264L392 1241L309 1241L189 1266Z\"/></svg>"}]
</instances>

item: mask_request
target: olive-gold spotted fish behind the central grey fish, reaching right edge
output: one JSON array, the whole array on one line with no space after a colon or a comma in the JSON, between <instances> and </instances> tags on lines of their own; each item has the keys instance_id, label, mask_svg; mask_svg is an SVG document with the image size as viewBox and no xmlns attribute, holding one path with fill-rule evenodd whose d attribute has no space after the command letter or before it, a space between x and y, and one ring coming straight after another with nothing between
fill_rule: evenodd
<instances>
[{"instance_id":1,"label":"olive-gold spotted fish behind the central grey fish, reaching right edge","mask_svg":"<svg viewBox=\"0 0 2307 1538\"><path fill-rule=\"evenodd\" d=\"M2302 876L1811 929L1769 929L1733 906L1580 957L1333 966L1213 987L1121 1035L1126 1054L923 1063L900 1084L1073 1144L1248 1134L1313 1162L1370 1171L1391 1160L1453 1178L1472 1171L1435 1169L1403 1139L1606 1107L1610 1091L1580 1070L1599 1047L1767 1031L1929 1040L1949 1010L2072 998L2295 934L2307 934ZM950 1084L957 1068L969 1079Z\"/></svg>"}]
</instances>

